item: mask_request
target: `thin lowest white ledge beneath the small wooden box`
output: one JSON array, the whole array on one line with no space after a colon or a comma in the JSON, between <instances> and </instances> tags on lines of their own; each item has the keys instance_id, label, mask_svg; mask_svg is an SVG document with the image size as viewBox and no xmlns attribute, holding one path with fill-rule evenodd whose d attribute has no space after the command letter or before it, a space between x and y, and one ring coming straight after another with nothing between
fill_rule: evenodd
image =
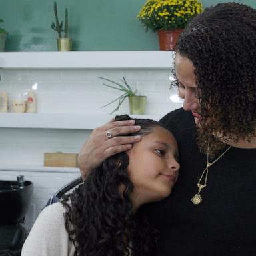
<instances>
[{"instance_id":1,"label":"thin lowest white ledge beneath the small wooden box","mask_svg":"<svg viewBox=\"0 0 256 256\"><path fill-rule=\"evenodd\" d=\"M33 165L0 165L0 171L29 171L49 173L80 173L79 168L68 167L44 167Z\"/></svg>"}]
</instances>

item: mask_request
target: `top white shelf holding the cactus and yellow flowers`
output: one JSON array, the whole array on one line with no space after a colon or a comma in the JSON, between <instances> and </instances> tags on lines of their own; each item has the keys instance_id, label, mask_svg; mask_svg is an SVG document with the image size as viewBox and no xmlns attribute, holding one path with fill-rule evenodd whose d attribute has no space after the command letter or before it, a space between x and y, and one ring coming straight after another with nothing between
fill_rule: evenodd
<instances>
[{"instance_id":1,"label":"top white shelf holding the cactus and yellow flowers","mask_svg":"<svg viewBox=\"0 0 256 256\"><path fill-rule=\"evenodd\" d=\"M0 53L7 69L170 69L173 51L43 51Z\"/></svg>"}]
</instances>

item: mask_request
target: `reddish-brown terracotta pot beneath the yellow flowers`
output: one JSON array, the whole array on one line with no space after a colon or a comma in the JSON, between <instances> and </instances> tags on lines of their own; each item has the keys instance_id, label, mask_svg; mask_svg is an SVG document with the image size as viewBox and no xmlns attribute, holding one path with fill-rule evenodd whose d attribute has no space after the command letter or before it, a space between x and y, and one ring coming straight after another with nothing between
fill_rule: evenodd
<instances>
[{"instance_id":1,"label":"reddish-brown terracotta pot beneath the yellow flowers","mask_svg":"<svg viewBox=\"0 0 256 256\"><path fill-rule=\"evenodd\" d=\"M157 31L159 38L159 46L161 51L174 51L179 35L183 29L170 29Z\"/></svg>"}]
</instances>

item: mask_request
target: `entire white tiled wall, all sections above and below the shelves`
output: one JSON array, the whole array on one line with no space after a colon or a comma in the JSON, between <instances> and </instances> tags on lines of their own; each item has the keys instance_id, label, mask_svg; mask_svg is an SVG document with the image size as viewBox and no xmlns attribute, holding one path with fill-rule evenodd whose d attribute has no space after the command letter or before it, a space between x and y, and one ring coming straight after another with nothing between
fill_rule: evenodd
<instances>
[{"instance_id":1,"label":"entire white tiled wall, all sections above and below the shelves","mask_svg":"<svg viewBox=\"0 0 256 256\"><path fill-rule=\"evenodd\" d=\"M27 91L37 89L39 113L110 113L115 104L101 106L120 93L102 85L98 77L112 80L127 79L130 85L147 95L147 114L165 115L181 107L177 91L169 90L169 69L1 69L0 91L9 92L9 101L26 99ZM125 101L118 113L129 113ZM1 122L1 120L0 120ZM17 120L17 122L22 122ZM63 151L78 153L90 130L67 129L0 129L1 165L43 166L43 153ZM33 202L25 227L30 229L47 199L59 187L75 179L79 173L33 171L1 171L0 179L16 179L25 175L33 181Z\"/></svg>"}]
</instances>

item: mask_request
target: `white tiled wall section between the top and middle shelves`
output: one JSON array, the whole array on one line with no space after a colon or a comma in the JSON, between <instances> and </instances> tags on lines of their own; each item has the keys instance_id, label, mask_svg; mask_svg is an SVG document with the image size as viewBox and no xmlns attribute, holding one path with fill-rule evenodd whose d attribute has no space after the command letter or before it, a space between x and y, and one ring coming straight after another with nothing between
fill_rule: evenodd
<instances>
[{"instance_id":1,"label":"white tiled wall section between the top and middle shelves","mask_svg":"<svg viewBox=\"0 0 256 256\"><path fill-rule=\"evenodd\" d=\"M37 88L39 113L110 113L115 104L101 106L121 93L102 85L107 77L118 81L123 76L141 95L147 95L147 114L165 114L181 106L170 96L171 71L169 69L3 69L0 90L9 92L13 99L26 99L27 91ZM92 110L93 109L93 110ZM128 113L128 101L119 113Z\"/></svg>"}]
</instances>

